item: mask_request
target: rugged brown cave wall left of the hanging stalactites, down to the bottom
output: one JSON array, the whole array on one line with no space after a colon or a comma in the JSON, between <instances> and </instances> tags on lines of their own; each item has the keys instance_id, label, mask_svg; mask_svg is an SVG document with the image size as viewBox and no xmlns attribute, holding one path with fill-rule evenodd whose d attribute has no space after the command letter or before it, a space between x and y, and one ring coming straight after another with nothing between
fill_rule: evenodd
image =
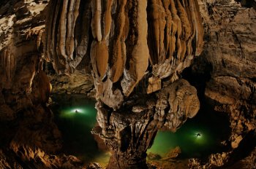
<instances>
[{"instance_id":1,"label":"rugged brown cave wall left of the hanging stalactites, down to the bottom","mask_svg":"<svg viewBox=\"0 0 256 169\"><path fill-rule=\"evenodd\" d=\"M50 81L42 71L48 1L0 4L0 168L80 168L75 157L49 156L61 148L61 133L46 106Z\"/></svg>"}]
</instances>

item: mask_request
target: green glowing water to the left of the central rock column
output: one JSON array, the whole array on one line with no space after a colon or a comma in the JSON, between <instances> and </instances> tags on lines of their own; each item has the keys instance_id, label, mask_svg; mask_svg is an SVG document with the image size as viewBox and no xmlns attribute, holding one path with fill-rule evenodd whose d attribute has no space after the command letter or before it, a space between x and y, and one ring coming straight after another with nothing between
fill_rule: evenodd
<instances>
[{"instance_id":1,"label":"green glowing water to the left of the central rock column","mask_svg":"<svg viewBox=\"0 0 256 169\"><path fill-rule=\"evenodd\" d=\"M63 138L61 152L83 162L108 163L110 155L98 149L91 129L97 123L95 101L84 95L53 95L51 109Z\"/></svg>"}]
</instances>

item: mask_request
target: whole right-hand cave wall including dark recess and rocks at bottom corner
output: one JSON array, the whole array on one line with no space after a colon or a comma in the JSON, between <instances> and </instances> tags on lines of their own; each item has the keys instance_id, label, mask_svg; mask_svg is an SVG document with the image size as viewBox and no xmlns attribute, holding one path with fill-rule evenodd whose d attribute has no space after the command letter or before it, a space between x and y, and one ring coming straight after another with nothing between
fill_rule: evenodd
<instances>
[{"instance_id":1,"label":"whole right-hand cave wall including dark recess and rocks at bottom corner","mask_svg":"<svg viewBox=\"0 0 256 169\"><path fill-rule=\"evenodd\" d=\"M224 158L222 154L213 154L208 161L211 165L207 165L207 168L213 168L255 154L256 12L235 1L207 4L202 0L200 10L206 44L204 52L191 67L197 82L193 83L192 79L189 82L197 85L197 90L215 110L228 114L232 130L227 141L230 152L224 152ZM255 168L255 157L247 158L240 165Z\"/></svg>"}]
</instances>

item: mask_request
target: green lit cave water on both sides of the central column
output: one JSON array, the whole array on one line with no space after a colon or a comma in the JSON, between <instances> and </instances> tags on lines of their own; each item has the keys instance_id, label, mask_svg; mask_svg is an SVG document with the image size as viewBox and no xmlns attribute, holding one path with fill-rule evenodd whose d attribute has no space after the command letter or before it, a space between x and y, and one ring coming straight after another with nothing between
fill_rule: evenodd
<instances>
[{"instance_id":1,"label":"green lit cave water on both sides of the central column","mask_svg":"<svg viewBox=\"0 0 256 169\"><path fill-rule=\"evenodd\" d=\"M97 123L95 101L83 95L53 95L51 106L56 124L61 130L64 147L61 152L79 157L84 162L108 164L109 152L99 150L91 129ZM148 152L165 157L176 146L181 148L181 158L207 157L222 152L221 141L227 139L230 129L225 114L202 109L193 119L188 119L176 133L159 131ZM197 134L200 133L200 136Z\"/></svg>"}]
</instances>

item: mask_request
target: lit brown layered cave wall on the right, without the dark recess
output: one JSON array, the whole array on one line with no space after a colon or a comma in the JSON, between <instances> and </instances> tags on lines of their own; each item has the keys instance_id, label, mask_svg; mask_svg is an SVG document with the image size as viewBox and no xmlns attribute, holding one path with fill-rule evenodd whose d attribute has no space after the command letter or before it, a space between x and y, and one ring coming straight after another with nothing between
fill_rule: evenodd
<instances>
[{"instance_id":1,"label":"lit brown layered cave wall on the right, without the dark recess","mask_svg":"<svg viewBox=\"0 0 256 169\"><path fill-rule=\"evenodd\" d=\"M217 110L230 114L230 141L236 148L236 139L256 125L256 12L233 1L210 4L204 12L208 12L204 15L208 42L192 68L195 72L203 71L198 66L201 63L211 67L205 95L219 103Z\"/></svg>"}]
</instances>

